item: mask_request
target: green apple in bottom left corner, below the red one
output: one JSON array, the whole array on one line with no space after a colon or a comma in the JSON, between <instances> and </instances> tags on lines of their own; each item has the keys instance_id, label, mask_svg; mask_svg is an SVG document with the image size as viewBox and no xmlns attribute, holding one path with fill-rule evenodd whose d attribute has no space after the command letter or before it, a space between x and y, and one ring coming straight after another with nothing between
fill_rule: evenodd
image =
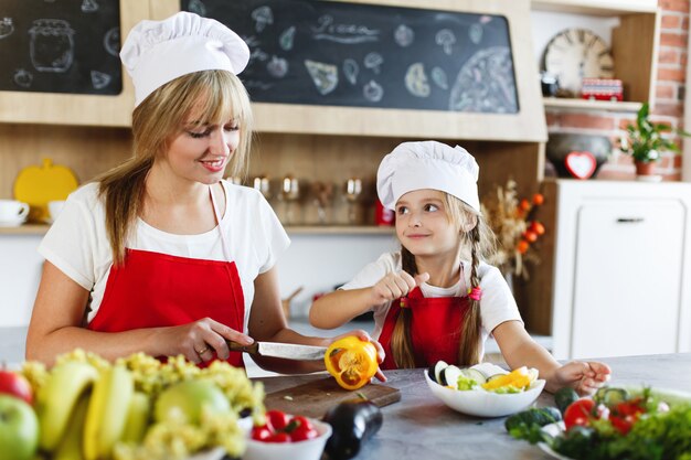
<instances>
[{"instance_id":1,"label":"green apple in bottom left corner, below the red one","mask_svg":"<svg viewBox=\"0 0 691 460\"><path fill-rule=\"evenodd\" d=\"M29 460L39 446L39 419L23 399L0 395L0 460Z\"/></svg>"}]
</instances>

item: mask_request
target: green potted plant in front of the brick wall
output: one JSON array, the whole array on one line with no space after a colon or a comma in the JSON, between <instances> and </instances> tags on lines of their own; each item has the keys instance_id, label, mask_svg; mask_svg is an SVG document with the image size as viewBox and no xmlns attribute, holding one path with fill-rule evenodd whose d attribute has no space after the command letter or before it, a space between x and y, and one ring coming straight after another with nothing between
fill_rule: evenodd
<instances>
[{"instance_id":1,"label":"green potted plant in front of the brick wall","mask_svg":"<svg viewBox=\"0 0 691 460\"><path fill-rule=\"evenodd\" d=\"M679 152L679 146L672 140L663 137L665 132L677 132L680 136L690 136L680 129L672 129L669 125L655 124L649 119L650 108L645 103L636 116L636 125L626 127L627 137L620 140L620 150L630 154L636 164L638 175L650 175L653 172L655 163L660 159L660 152L671 150Z\"/></svg>"}]
</instances>

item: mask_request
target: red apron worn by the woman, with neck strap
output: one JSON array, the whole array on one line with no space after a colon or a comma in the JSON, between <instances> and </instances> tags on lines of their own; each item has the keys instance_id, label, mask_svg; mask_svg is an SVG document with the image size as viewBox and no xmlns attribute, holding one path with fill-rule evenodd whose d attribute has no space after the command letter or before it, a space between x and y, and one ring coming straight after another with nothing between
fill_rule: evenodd
<instances>
[{"instance_id":1,"label":"red apron worn by the woman, with neck strap","mask_svg":"<svg viewBox=\"0 0 691 460\"><path fill-rule=\"evenodd\" d=\"M225 260L127 249L125 264L110 268L103 301L88 329L121 332L188 324L209 317L244 331L245 300L237 267L227 261L230 253L213 193L211 201ZM227 361L243 366L242 353L231 352Z\"/></svg>"}]
</instances>

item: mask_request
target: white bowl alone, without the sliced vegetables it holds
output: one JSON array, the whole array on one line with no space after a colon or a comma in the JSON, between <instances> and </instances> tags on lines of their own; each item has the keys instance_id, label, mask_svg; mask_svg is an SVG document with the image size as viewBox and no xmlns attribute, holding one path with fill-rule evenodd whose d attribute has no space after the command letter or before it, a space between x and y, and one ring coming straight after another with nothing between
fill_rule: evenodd
<instances>
[{"instance_id":1,"label":"white bowl alone, without the sliced vegetables it holds","mask_svg":"<svg viewBox=\"0 0 691 460\"><path fill-rule=\"evenodd\" d=\"M476 417L503 417L518 413L534 403L544 388L544 381L539 378L521 393L498 394L485 389L459 391L442 386L429 378L427 371L424 373L433 395L442 399L451 409Z\"/></svg>"}]
</instances>

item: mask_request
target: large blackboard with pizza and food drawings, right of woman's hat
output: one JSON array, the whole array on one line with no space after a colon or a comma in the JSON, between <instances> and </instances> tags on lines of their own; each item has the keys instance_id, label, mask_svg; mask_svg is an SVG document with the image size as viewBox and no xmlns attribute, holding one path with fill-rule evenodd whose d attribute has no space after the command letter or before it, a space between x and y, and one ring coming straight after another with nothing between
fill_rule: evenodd
<instances>
[{"instance_id":1,"label":"large blackboard with pizza and food drawings, right of woman's hat","mask_svg":"<svg viewBox=\"0 0 691 460\"><path fill-rule=\"evenodd\" d=\"M254 101L515 114L502 15L315 0L182 0L249 45Z\"/></svg>"}]
</instances>

